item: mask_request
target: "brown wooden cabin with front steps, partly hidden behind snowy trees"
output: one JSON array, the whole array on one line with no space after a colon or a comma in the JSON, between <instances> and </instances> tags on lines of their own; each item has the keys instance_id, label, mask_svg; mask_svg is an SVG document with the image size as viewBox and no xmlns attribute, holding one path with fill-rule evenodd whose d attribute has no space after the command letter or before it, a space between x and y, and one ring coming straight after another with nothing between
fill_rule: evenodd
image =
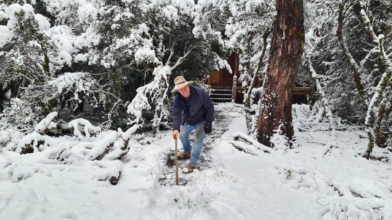
<instances>
[{"instance_id":1,"label":"brown wooden cabin with front steps, partly hidden behind snowy trees","mask_svg":"<svg viewBox=\"0 0 392 220\"><path fill-rule=\"evenodd\" d=\"M212 71L210 78L206 81L213 89L209 94L214 102L231 102L234 100L235 103L243 103L243 89L241 83L237 80L240 77L238 72L238 54L232 53L227 59L227 63L229 63L232 73L230 74L227 69ZM234 76L236 77L234 78ZM260 86L260 79L257 79L253 88L259 88ZM307 104L309 96L312 96L312 88L294 87L293 104Z\"/></svg>"}]
</instances>

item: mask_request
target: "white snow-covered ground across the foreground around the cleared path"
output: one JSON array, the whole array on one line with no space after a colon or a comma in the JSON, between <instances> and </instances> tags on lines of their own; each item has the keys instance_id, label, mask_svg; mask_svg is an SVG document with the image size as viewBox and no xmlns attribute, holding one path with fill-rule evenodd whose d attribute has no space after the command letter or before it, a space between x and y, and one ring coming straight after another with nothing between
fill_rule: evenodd
<instances>
[{"instance_id":1,"label":"white snow-covered ground across the foreground around the cleared path","mask_svg":"<svg viewBox=\"0 0 392 220\"><path fill-rule=\"evenodd\" d=\"M171 131L132 146L123 165L56 164L42 160L45 150L0 151L0 219L392 219L391 162L358 155L365 132L296 132L298 148L265 153L249 145L252 155L230 143L246 133L241 106L216 110L213 132L221 133L209 137L213 147L202 152L209 155L200 171L180 170L180 186L167 163ZM112 165L121 167L118 184L98 181L116 172Z\"/></svg>"}]
</instances>

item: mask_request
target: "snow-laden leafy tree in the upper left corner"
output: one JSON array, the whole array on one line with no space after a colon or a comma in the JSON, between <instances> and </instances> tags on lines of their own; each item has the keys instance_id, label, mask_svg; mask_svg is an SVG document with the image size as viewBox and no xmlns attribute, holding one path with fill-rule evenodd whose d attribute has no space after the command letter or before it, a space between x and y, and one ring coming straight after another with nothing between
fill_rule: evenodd
<instances>
[{"instance_id":1,"label":"snow-laden leafy tree in the upper left corner","mask_svg":"<svg viewBox=\"0 0 392 220\"><path fill-rule=\"evenodd\" d=\"M3 104L18 97L23 92L21 88L45 82L58 65L51 62L57 51L45 34L50 23L34 13L31 5L1 5L0 21L0 104Z\"/></svg>"}]
</instances>

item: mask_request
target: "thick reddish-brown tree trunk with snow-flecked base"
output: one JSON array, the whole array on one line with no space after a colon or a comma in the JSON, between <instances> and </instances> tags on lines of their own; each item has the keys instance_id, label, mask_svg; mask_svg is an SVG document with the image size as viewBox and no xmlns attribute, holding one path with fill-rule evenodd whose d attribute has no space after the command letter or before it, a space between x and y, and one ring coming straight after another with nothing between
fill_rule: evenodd
<instances>
[{"instance_id":1,"label":"thick reddish-brown tree trunk with snow-flecked base","mask_svg":"<svg viewBox=\"0 0 392 220\"><path fill-rule=\"evenodd\" d=\"M279 126L289 140L294 135L292 91L305 41L303 1L276 0L276 12L258 121L258 141L270 147L274 147L270 137Z\"/></svg>"}]
</instances>

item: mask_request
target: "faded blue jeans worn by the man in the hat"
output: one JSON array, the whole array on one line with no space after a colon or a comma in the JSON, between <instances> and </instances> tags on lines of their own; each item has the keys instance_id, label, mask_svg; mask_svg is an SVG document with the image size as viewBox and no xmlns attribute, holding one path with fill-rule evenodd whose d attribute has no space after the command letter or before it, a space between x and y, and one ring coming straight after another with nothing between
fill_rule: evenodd
<instances>
[{"instance_id":1,"label":"faded blue jeans worn by the man in the hat","mask_svg":"<svg viewBox=\"0 0 392 220\"><path fill-rule=\"evenodd\" d=\"M204 124L205 120L195 125L187 125L187 123L184 123L184 125L181 125L180 127L178 137L180 138L185 153L191 152L191 141L189 140L189 135L192 130L195 130L195 145L191 155L191 164L197 164L200 159L201 148L203 148L204 141Z\"/></svg>"}]
</instances>

